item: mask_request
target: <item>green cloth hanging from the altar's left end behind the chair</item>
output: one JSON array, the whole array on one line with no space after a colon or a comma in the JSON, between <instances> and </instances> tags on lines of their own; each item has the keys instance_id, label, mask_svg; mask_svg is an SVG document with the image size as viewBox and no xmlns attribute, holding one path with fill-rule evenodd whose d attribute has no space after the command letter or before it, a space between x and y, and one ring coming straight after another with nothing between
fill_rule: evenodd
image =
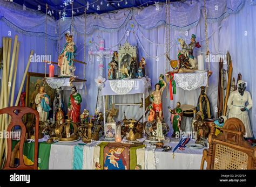
<instances>
[{"instance_id":1,"label":"green cloth hanging from the altar's left end behind the chair","mask_svg":"<svg viewBox=\"0 0 256 187\"><path fill-rule=\"evenodd\" d=\"M16 146L18 141L12 141L12 149ZM25 155L32 162L34 161L34 150L35 143L24 142L23 146L23 155ZM49 167L49 157L51 151L51 144L46 142L38 143L38 168L39 169L48 169Z\"/></svg>"}]
</instances>

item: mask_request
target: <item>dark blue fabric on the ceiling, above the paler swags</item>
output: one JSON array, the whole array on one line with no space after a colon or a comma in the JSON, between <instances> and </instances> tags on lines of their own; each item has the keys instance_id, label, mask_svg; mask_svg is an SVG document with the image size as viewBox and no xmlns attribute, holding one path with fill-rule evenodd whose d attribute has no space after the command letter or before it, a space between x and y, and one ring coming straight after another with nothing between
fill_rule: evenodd
<instances>
[{"instance_id":1,"label":"dark blue fabric on the ceiling, above the paler swags","mask_svg":"<svg viewBox=\"0 0 256 187\"><path fill-rule=\"evenodd\" d=\"M157 0L156 2L165 2L166 0ZM179 0L170 0L170 2L175 2ZM37 10L38 5L41 6L41 12L45 13L45 4L48 4L49 9L53 10L53 17L59 19L59 10L64 10L65 5L63 0L14 0L23 6L23 4L30 9ZM155 4L155 1L151 0L74 0L73 10L75 16L83 15L85 6L89 3L89 10L86 13L97 13L102 14L105 12L110 12L119 9L138 7L138 6L150 6ZM117 3L118 2L118 3ZM127 4L126 4L127 2ZM118 5L119 4L119 5ZM99 8L99 10L98 10ZM78 9L78 12L77 12ZM71 5L66 6L66 17L71 17Z\"/></svg>"}]
</instances>

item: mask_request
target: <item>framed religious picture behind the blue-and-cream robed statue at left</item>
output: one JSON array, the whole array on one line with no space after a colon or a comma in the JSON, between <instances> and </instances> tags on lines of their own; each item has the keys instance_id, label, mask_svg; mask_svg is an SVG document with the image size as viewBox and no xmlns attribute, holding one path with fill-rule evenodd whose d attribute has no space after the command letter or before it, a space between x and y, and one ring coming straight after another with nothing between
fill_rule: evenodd
<instances>
[{"instance_id":1,"label":"framed religious picture behind the blue-and-cream robed statue at left","mask_svg":"<svg viewBox=\"0 0 256 187\"><path fill-rule=\"evenodd\" d=\"M48 75L46 75L48 76ZM37 109L37 104L35 103L36 95L39 92L40 87L44 84L44 74L41 73L32 73L28 72L26 75L26 99L25 99L25 106L31 107L32 109ZM57 77L57 76L55 76ZM45 92L50 97L50 107L52 107L53 99L55 97L55 89L49 87L47 83L44 85ZM49 113L49 119L52 116L52 112ZM31 116L28 114L26 116L26 121L34 120L35 116Z\"/></svg>"}]
</instances>

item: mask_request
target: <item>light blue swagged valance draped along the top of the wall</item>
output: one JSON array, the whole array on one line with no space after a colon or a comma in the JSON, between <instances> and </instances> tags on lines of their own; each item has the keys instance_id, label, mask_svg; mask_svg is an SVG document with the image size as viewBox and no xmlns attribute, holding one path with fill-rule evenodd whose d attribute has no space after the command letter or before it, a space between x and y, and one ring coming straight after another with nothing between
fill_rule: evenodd
<instances>
[{"instance_id":1,"label":"light blue swagged valance draped along the top of the wall","mask_svg":"<svg viewBox=\"0 0 256 187\"><path fill-rule=\"evenodd\" d=\"M52 3L54 0L49 0ZM105 0L106 1L106 0ZM124 0L125 1L125 0ZM214 23L221 21L230 13L238 12L244 5L246 0L210 0L206 3L207 22ZM247 0L248 4L255 5L255 0ZM218 11L216 11L218 6ZM56 6L58 7L58 6ZM90 8L91 9L91 8ZM90 10L89 9L89 10ZM101 15L90 14L86 18L86 33L92 33L95 29L107 32L117 32L120 28L132 25L147 30L151 30L159 25L166 24L166 5L159 3L159 10L156 6L148 6L142 9L122 9L103 13ZM174 30L187 31L196 26L200 17L203 16L203 1L186 1L172 2L170 4L170 25ZM14 28L16 31L27 35L44 35L45 34L45 13L37 10L26 8L17 3L0 1L0 20L6 25ZM60 21L60 30L59 30ZM49 39L58 40L60 37L70 30L71 18L65 20L55 20L48 16L47 35ZM73 29L80 34L84 34L84 15L75 16L73 18Z\"/></svg>"}]
</instances>

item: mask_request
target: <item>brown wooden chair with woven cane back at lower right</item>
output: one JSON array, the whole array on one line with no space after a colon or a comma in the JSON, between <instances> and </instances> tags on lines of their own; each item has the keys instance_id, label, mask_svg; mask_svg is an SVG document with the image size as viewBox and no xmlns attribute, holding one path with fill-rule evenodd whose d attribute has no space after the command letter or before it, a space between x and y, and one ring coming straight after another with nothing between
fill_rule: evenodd
<instances>
[{"instance_id":1,"label":"brown wooden chair with woven cane back at lower right","mask_svg":"<svg viewBox=\"0 0 256 187\"><path fill-rule=\"evenodd\" d=\"M245 126L238 118L230 118L215 136L215 124L211 124L208 136L209 148L203 151L201 169L256 169L256 147L244 139Z\"/></svg>"}]
</instances>

